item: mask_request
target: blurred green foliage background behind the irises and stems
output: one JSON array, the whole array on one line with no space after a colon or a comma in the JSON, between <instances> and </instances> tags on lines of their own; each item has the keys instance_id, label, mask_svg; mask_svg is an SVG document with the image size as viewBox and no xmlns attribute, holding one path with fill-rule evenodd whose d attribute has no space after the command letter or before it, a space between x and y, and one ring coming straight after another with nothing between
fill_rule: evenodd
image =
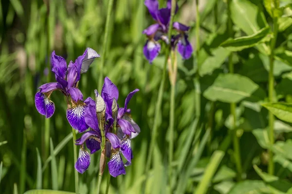
<instances>
[{"instance_id":1,"label":"blurred green foliage background behind the irises and stems","mask_svg":"<svg viewBox=\"0 0 292 194\"><path fill-rule=\"evenodd\" d=\"M165 0L159 1L164 7ZM132 140L134 159L126 167L125 176L111 178L110 194L142 193L145 181L146 194L171 191L176 194L196 191L196 194L292 194L289 191L292 127L288 122L274 121L275 171L274 175L266 173L271 157L267 149L271 143L266 130L268 111L260 105L268 101L273 28L264 38L248 46L220 47L231 36L253 36L273 26L273 17L264 5L269 0L231 1L228 4L231 13L227 1L199 1L198 35L195 33L196 1L178 0L180 9L174 21L191 27L189 40L194 54L187 61L178 56L173 175L169 180L168 76L151 169L145 174L164 52L153 65L143 55L146 37L142 31L154 23L144 0L114 0L105 65L100 68L101 58L95 59L79 83L84 98L93 97L94 89L101 89L97 85L102 72L103 77L108 76L119 88L119 104L124 103L130 91L140 89L129 104L132 117L141 128L139 136ZM283 0L280 6L289 3ZM0 194L22 194L36 188L74 191L73 143L71 126L65 116L65 99L55 92L51 96L55 114L45 119L37 112L34 97L38 86L54 81L48 60L53 50L67 62L75 60L87 47L104 57L107 6L108 0L0 0ZM291 16L288 10L277 21L275 101L292 102ZM229 19L232 19L232 33L227 32ZM198 54L196 40L201 45ZM231 53L233 56L228 59ZM228 73L230 60L235 75ZM198 66L200 73L197 73ZM200 79L200 87L195 78ZM224 87L236 92L225 94ZM196 104L196 94L201 95L200 105ZM236 105L234 113L230 113L230 103ZM198 106L201 116L196 115ZM232 114L236 114L235 122ZM234 136L239 141L240 170L232 143ZM96 193L98 155L91 155L89 170L79 175L81 194ZM106 180L107 172L102 180L102 193L106 190ZM172 181L171 189L169 181Z\"/></svg>"}]
</instances>

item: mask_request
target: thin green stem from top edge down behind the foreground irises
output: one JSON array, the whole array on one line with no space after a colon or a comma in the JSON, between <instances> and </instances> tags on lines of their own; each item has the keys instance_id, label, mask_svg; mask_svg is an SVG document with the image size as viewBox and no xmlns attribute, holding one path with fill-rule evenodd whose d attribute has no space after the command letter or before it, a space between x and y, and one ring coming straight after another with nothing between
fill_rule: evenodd
<instances>
[{"instance_id":1,"label":"thin green stem from top edge down behind the foreground irises","mask_svg":"<svg viewBox=\"0 0 292 194\"><path fill-rule=\"evenodd\" d=\"M107 20L106 20L106 28L105 28L105 36L104 41L102 44L102 55L101 55L101 64L100 64L100 70L99 70L99 78L98 78L98 90L101 91L102 82L103 82L103 66L105 65L105 59L106 59L106 52L107 52L107 43L109 40L109 29L110 29L110 14L112 10L112 4L113 0L109 0L108 2L108 11L107 11Z\"/></svg>"}]
</instances>

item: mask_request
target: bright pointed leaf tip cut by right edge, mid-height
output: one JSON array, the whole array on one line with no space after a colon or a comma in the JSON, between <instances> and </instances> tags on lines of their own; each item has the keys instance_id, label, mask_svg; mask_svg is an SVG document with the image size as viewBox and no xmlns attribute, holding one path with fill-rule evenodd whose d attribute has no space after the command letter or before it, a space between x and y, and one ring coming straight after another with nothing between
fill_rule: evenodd
<instances>
[{"instance_id":1,"label":"bright pointed leaf tip cut by right edge, mid-height","mask_svg":"<svg viewBox=\"0 0 292 194\"><path fill-rule=\"evenodd\" d=\"M292 103L273 102L262 104L279 119L292 123Z\"/></svg>"}]
</instances>

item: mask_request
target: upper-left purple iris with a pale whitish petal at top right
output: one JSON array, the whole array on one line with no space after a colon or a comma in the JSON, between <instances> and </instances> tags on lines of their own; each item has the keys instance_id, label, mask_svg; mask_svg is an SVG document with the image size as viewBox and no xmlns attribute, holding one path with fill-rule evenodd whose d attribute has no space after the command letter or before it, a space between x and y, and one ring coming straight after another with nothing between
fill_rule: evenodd
<instances>
[{"instance_id":1,"label":"upper-left purple iris with a pale whitish petal at top right","mask_svg":"<svg viewBox=\"0 0 292 194\"><path fill-rule=\"evenodd\" d=\"M99 55L95 50L87 48L83 55L79 56L74 63L71 61L67 67L66 60L55 55L53 51L51 62L56 82L45 83L39 87L40 91L35 96L37 111L46 118L50 118L55 112L55 104L50 100L50 96L53 91L59 90L67 99L67 119L70 125L79 132L88 129L84 120L87 105L83 102L83 95L77 86L80 74L86 73L94 58L97 57Z\"/></svg>"}]
</instances>

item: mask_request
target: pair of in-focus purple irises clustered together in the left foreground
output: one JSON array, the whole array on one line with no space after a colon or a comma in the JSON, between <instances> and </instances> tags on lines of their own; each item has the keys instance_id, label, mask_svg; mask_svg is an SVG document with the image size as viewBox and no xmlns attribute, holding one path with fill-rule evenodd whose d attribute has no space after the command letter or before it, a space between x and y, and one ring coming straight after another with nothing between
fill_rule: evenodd
<instances>
[{"instance_id":1,"label":"pair of in-focus purple irises clustered together in the left foreground","mask_svg":"<svg viewBox=\"0 0 292 194\"><path fill-rule=\"evenodd\" d=\"M103 160L100 162L100 171L103 172L105 159L108 157L110 158L108 162L110 175L117 177L126 174L125 166L130 165L133 158L131 139L140 133L140 128L133 121L128 109L130 99L139 90L130 92L124 108L121 108L117 104L119 91L106 77L101 95L95 90L95 100L88 97L83 101L83 95L78 89L80 75L87 72L97 57L99 55L96 51L88 48L67 67L66 60L55 55L54 51L51 62L56 82L41 85L35 96L35 103L37 111L46 118L50 118L55 112L55 104L50 96L55 90L61 91L66 97L67 119L70 125L78 132L83 132L81 138L76 140L76 145L80 145L80 149L75 169L81 174L84 173L90 165L90 154L101 150ZM125 164L121 154L127 160Z\"/></svg>"}]
</instances>

